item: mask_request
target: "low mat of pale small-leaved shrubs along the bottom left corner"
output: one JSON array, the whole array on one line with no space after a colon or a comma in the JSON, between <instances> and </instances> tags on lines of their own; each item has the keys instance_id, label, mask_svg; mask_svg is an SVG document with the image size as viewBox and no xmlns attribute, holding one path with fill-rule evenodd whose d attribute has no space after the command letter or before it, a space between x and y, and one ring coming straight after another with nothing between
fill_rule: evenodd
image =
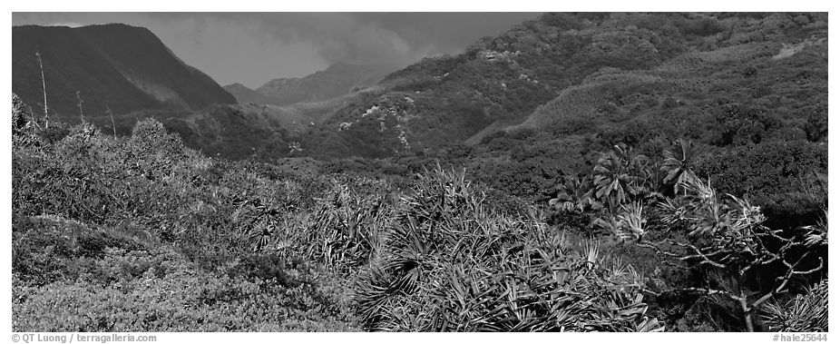
<instances>
[{"instance_id":1,"label":"low mat of pale small-leaved shrubs along the bottom left corner","mask_svg":"<svg viewBox=\"0 0 840 344\"><path fill-rule=\"evenodd\" d=\"M265 287L194 270L181 260L105 287L82 280L43 288L13 280L15 331L337 331L338 300L312 285Z\"/></svg>"}]
</instances>

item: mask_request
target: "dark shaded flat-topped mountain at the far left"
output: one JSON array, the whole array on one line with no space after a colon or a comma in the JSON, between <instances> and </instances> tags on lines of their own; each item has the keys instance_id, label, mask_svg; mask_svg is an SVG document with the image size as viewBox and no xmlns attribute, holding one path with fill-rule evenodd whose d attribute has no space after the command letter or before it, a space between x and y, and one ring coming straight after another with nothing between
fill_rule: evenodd
<instances>
[{"instance_id":1,"label":"dark shaded flat-topped mountain at the far left","mask_svg":"<svg viewBox=\"0 0 840 344\"><path fill-rule=\"evenodd\" d=\"M146 28L91 25L12 28L12 90L33 107L44 93L50 115L65 121L143 109L197 110L236 99L210 76L184 64ZM36 112L37 113L37 112Z\"/></svg>"}]
</instances>

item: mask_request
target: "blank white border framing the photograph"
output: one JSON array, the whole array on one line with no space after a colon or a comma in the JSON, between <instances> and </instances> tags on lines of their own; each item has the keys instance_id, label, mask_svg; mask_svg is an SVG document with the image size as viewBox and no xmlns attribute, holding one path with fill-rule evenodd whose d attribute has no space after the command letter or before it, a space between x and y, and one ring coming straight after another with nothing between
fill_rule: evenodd
<instances>
[{"instance_id":1,"label":"blank white border framing the photograph","mask_svg":"<svg viewBox=\"0 0 840 344\"><path fill-rule=\"evenodd\" d=\"M359 2L359 1L321 1L317 3L304 2L285 2L285 1L250 1L239 0L235 2L173 2L165 0L146 0L141 3L127 5L119 1L59 1L59 0L41 0L30 1L26 3L17 3L12 5L12 11L4 15L4 20L10 27L12 23L11 12L547 12L547 11L708 11L718 12L721 10L731 12L741 11L766 11L766 12L786 12L786 11L804 11L804 12L829 12L829 22L836 19L833 15L834 6L829 5L828 2L822 1L774 1L761 3L748 3L736 1L721 1L721 0L707 0L702 2L639 2L639 1L601 1L598 3L592 2L561 2L561 1L539 1L539 2L523 2L523 1L509 1L509 2L492 2L485 0L484 2L459 2L433 0L433 1L402 1L402 2ZM829 35L834 36L835 25L829 25ZM5 74L5 96L7 97L6 104L11 103L11 32L4 35L4 45L6 53L3 56L6 65ZM831 40L829 40L831 42ZM829 55L835 50L829 44ZM189 62L188 62L189 63ZM834 71L832 63L829 61L829 71ZM829 89L836 89L834 87L836 78L829 76ZM8 105L7 105L8 106ZM832 110L837 109L838 103L834 97L829 96L829 117L832 117ZM9 128L10 117L5 117L5 128ZM840 117L838 117L840 118ZM836 137L831 133L835 133L837 129L837 121L840 119L829 120L829 137ZM6 197L11 195L11 132L6 129L2 131L3 140L9 144L3 154L3 179L2 188L5 191ZM829 164L837 166L837 144L834 138L829 140ZM840 140L840 139L837 139ZM835 170L829 170L829 179L832 185L840 179ZM837 190L832 186L830 192L830 202L838 204L836 199ZM6 284L2 297L4 300L11 301L11 200L4 199L3 220L8 225L8 230L5 232L4 245L5 249L2 256ZM837 219L836 211L830 211L830 217ZM836 247L836 246L835 246ZM834 255L835 250L830 249L829 255ZM835 276L835 273L831 273ZM835 281L836 278L830 276L829 288L831 290L837 289ZM829 293L829 304L832 310L836 310L836 297L833 292ZM11 307L5 308L3 311L4 317L2 320L3 327L11 330ZM829 329L835 329L840 324L831 319L840 319L840 316L829 318ZM512 341L528 340L534 342L596 342L596 341L621 341L621 342L645 342L645 343L674 343L680 344L688 343L712 343L712 342L772 342L771 333L659 333L659 334L624 334L624 333L528 333L528 334L392 334L392 333L316 333L316 334L301 334L301 333L151 333L158 336L158 343L181 343L181 342L212 342L212 343L230 343L247 340L248 342L271 342L278 341L295 343L295 342L364 342L364 343L388 343L393 344L395 341L405 342L426 342L426 341L444 341L444 342L469 342L481 340L483 342L497 342L509 344ZM2 336L2 335L0 335ZM6 336L11 336L10 332L6 332ZM829 333L829 339L834 339L834 336ZM10 337L0 341L10 340ZM836 340L836 339L835 339Z\"/></svg>"}]
</instances>

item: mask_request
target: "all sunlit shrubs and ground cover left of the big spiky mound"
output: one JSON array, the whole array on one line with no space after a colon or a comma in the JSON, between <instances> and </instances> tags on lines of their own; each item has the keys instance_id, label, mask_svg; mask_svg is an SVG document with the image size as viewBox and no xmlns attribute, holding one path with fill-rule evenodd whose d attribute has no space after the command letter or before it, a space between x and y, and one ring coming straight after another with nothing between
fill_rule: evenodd
<instances>
[{"instance_id":1,"label":"all sunlit shrubs and ground cover left of the big spiky mound","mask_svg":"<svg viewBox=\"0 0 840 344\"><path fill-rule=\"evenodd\" d=\"M13 166L16 330L353 329L334 275L251 235L314 204L313 176L205 158L154 120L18 141Z\"/></svg>"}]
</instances>

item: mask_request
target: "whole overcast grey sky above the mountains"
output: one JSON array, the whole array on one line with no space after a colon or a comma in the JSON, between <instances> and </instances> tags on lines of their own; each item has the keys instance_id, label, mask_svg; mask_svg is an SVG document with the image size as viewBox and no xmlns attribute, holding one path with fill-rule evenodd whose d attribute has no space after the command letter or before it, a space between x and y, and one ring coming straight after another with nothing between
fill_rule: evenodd
<instances>
[{"instance_id":1,"label":"whole overcast grey sky above the mountains","mask_svg":"<svg viewBox=\"0 0 840 344\"><path fill-rule=\"evenodd\" d=\"M407 65L458 54L532 13L13 13L13 25L123 23L157 34L219 84L259 87L336 62Z\"/></svg>"}]
</instances>

